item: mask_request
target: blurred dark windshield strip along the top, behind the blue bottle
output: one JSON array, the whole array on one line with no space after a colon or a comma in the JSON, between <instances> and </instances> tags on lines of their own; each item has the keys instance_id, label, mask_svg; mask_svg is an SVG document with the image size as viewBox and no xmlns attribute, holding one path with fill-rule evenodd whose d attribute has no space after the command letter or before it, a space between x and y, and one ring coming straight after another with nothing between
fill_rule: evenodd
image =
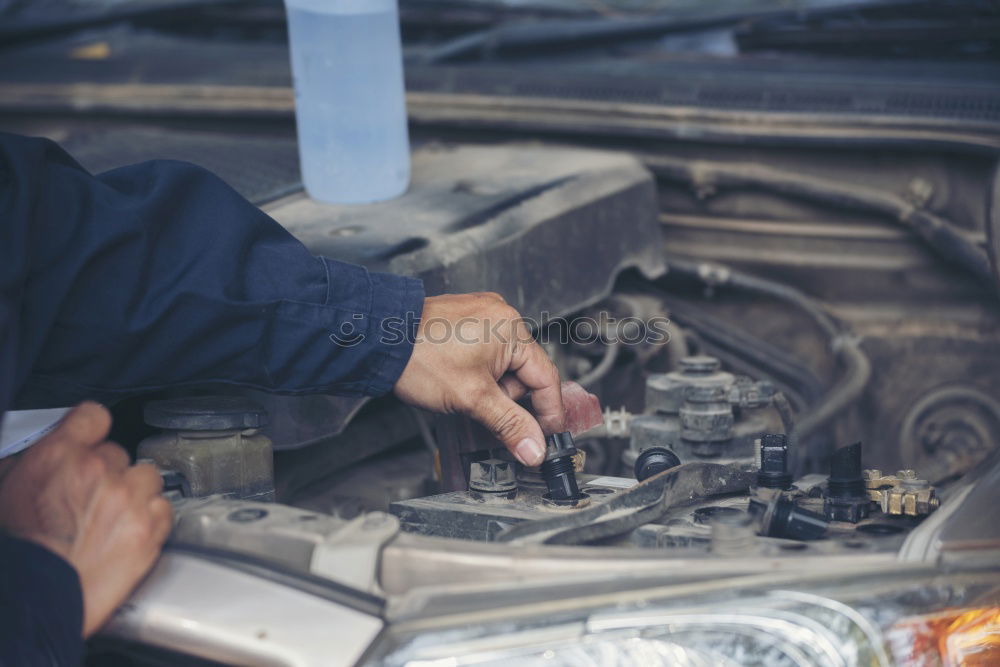
<instances>
[{"instance_id":1,"label":"blurred dark windshield strip along the top, behind the blue bottle","mask_svg":"<svg viewBox=\"0 0 1000 667\"><path fill-rule=\"evenodd\" d=\"M400 0L411 62L678 57L995 60L1000 9L912 0ZM0 0L7 43L127 23L283 41L278 0Z\"/></svg>"}]
</instances>

